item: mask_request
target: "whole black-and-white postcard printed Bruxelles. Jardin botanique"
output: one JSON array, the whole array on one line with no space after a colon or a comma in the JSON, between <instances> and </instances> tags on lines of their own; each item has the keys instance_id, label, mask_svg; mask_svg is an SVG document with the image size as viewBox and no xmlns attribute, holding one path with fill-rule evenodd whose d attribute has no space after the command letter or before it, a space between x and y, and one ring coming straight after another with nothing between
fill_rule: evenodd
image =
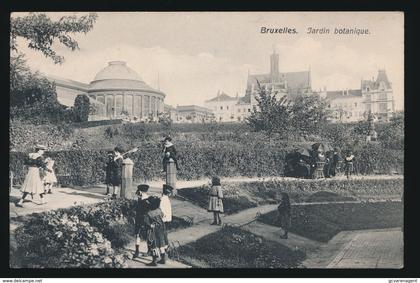
<instances>
[{"instance_id":1,"label":"whole black-and-white postcard printed Bruxelles. Jardin botanique","mask_svg":"<svg viewBox=\"0 0 420 283\"><path fill-rule=\"evenodd\" d=\"M13 12L11 269L401 269L403 12Z\"/></svg>"}]
</instances>

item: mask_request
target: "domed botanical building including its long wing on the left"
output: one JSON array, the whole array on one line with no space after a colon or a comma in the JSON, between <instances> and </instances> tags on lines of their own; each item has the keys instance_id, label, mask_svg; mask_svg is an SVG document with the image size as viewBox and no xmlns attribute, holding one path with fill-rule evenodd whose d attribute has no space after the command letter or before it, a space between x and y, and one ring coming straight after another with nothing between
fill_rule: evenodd
<instances>
[{"instance_id":1,"label":"domed botanical building including its long wing on the left","mask_svg":"<svg viewBox=\"0 0 420 283\"><path fill-rule=\"evenodd\" d=\"M46 76L56 84L60 103L73 106L79 94L91 99L89 120L137 117L154 119L164 112L165 94L147 85L126 62L111 61L90 84Z\"/></svg>"}]
</instances>

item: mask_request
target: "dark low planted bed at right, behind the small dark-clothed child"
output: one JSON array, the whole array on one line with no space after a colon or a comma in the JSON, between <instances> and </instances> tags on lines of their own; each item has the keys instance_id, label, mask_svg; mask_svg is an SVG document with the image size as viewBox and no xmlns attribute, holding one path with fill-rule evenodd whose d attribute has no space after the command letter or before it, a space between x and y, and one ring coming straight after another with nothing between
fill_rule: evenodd
<instances>
[{"instance_id":1,"label":"dark low planted bed at right, behind the small dark-clothed child","mask_svg":"<svg viewBox=\"0 0 420 283\"><path fill-rule=\"evenodd\" d=\"M344 230L402 227L403 210L402 202L295 205L290 231L328 242ZM280 226L277 211L262 215L260 221Z\"/></svg>"}]
</instances>

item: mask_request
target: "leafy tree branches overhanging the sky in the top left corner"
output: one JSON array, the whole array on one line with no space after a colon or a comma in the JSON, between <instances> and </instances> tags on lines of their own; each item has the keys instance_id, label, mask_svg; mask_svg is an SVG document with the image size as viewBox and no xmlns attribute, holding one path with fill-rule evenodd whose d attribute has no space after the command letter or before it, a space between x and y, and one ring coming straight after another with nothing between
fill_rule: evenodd
<instances>
[{"instance_id":1,"label":"leafy tree branches overhanging the sky in the top left corner","mask_svg":"<svg viewBox=\"0 0 420 283\"><path fill-rule=\"evenodd\" d=\"M51 58L54 63L61 64L64 57L58 55L53 49L53 43L58 40L65 47L72 51L79 49L79 45L72 34L86 34L96 22L96 13L88 15L64 16L57 21L53 21L44 13L29 13L23 17L11 17L10 20L10 48L18 52L16 39L24 38L28 41L28 47L42 52L47 58Z\"/></svg>"}]
</instances>

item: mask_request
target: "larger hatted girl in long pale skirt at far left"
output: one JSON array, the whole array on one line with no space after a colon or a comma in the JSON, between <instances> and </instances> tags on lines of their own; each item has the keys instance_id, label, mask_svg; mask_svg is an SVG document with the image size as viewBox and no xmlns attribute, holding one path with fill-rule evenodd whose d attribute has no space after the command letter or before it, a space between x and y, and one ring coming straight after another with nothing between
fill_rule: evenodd
<instances>
[{"instance_id":1,"label":"larger hatted girl in long pale skirt at far left","mask_svg":"<svg viewBox=\"0 0 420 283\"><path fill-rule=\"evenodd\" d=\"M28 194L32 196L37 194L41 199L40 204L44 204L44 184L41 181L41 170L47 169L44 162L44 153L47 147L45 145L37 145L35 147L36 152L29 153L28 158L25 161L25 165L28 166L28 173L26 174L25 181L21 187L22 198L15 203L18 207L23 207L23 201Z\"/></svg>"}]
</instances>

